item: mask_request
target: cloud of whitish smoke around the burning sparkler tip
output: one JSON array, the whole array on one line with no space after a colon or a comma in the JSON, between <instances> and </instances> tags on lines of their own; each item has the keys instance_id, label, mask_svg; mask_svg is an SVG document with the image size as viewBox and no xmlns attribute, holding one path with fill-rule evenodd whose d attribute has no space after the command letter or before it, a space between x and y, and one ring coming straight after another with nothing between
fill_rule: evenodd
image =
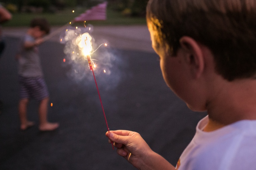
<instances>
[{"instance_id":1,"label":"cloud of whitish smoke around the burning sparkler tip","mask_svg":"<svg viewBox=\"0 0 256 170\"><path fill-rule=\"evenodd\" d=\"M119 68L125 65L121 57L114 54L114 50L109 48L108 45L100 46L106 42L103 40L96 42L92 37L92 33L92 25L81 28L69 26L65 33L62 33L60 38L62 39L61 43L65 44L64 53L66 55L64 64L70 67L68 76L78 83L84 83L86 86L95 86L92 71L89 68L86 54L83 52L85 40L82 37L86 35L90 39L92 47L90 50L92 51L91 60L96 65L94 73L98 87L105 90L114 89L122 77Z\"/></svg>"}]
</instances>

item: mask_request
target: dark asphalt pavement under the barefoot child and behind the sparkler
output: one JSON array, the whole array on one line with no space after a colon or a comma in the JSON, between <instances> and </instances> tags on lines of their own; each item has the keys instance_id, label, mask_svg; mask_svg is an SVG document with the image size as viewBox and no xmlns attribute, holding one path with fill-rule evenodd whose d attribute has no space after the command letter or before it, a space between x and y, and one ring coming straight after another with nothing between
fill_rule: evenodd
<instances>
[{"instance_id":1,"label":"dark asphalt pavement under the barefoot child and behind the sparkler","mask_svg":"<svg viewBox=\"0 0 256 170\"><path fill-rule=\"evenodd\" d=\"M25 131L19 129L15 61L18 41L19 37L7 36L7 47L0 59L0 169L135 169L108 144L103 112L87 61L71 62L59 42L47 41L39 52L53 103L52 107L49 103L48 117L59 122L60 127L53 132L40 132L38 103L31 101L28 117L36 125ZM205 113L190 111L168 89L155 53L110 47L107 54L112 66L99 62L95 76L110 130L139 132L155 152L176 164Z\"/></svg>"}]
</instances>

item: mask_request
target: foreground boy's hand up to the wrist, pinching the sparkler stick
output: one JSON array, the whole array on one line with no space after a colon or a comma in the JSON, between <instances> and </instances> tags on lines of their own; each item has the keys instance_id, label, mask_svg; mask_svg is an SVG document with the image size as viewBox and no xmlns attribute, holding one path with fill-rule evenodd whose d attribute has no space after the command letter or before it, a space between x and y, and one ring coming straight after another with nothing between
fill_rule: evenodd
<instances>
[{"instance_id":1,"label":"foreground boy's hand up to the wrist, pinching the sparkler stick","mask_svg":"<svg viewBox=\"0 0 256 170\"><path fill-rule=\"evenodd\" d=\"M114 142L118 155L124 157L136 168L147 162L147 155L153 152L139 133L128 130L106 132L109 143Z\"/></svg>"}]
</instances>

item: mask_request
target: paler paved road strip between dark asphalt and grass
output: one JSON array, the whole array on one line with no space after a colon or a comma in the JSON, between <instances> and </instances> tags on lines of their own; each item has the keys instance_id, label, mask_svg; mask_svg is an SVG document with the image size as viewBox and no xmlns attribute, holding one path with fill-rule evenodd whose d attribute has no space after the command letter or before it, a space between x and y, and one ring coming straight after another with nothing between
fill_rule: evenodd
<instances>
[{"instance_id":1,"label":"paler paved road strip between dark asphalt and grass","mask_svg":"<svg viewBox=\"0 0 256 170\"><path fill-rule=\"evenodd\" d=\"M91 26L93 37L100 41L105 40L111 47L138 50L144 52L154 52L151 47L150 34L146 25L140 26ZM8 37L21 37L27 31L27 27L15 28L4 27L3 33ZM63 30L62 32L60 32ZM51 33L54 36L50 41L59 42L60 35L65 32L66 27L53 27ZM58 33L58 34L55 34Z\"/></svg>"}]
</instances>

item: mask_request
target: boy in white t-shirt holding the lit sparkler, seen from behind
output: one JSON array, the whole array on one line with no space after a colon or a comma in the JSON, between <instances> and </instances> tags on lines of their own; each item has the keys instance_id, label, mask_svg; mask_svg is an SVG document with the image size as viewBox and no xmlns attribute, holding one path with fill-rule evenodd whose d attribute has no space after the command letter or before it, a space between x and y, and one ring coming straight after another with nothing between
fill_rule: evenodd
<instances>
[{"instance_id":1,"label":"boy in white t-shirt holding the lit sparkler, seen from behind","mask_svg":"<svg viewBox=\"0 0 256 170\"><path fill-rule=\"evenodd\" d=\"M166 84L194 111L207 111L176 168L141 136L106 135L138 169L256 167L256 1L150 0L147 23Z\"/></svg>"}]
</instances>

